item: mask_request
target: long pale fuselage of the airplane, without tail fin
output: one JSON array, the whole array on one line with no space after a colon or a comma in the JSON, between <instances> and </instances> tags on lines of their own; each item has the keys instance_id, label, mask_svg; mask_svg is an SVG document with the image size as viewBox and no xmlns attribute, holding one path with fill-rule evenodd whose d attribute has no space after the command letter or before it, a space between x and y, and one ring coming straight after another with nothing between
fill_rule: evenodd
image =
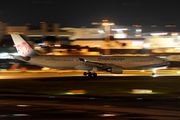
<instances>
[{"instance_id":1,"label":"long pale fuselage of the airplane, without tail fin","mask_svg":"<svg viewBox=\"0 0 180 120\"><path fill-rule=\"evenodd\" d=\"M14 56L16 59L21 57ZM147 56L31 56L29 63L55 68L55 69L81 69L91 70L92 66L88 66L84 61L98 62L108 65L121 66L123 70L141 70L167 67L169 63L161 58ZM23 60L25 61L25 60Z\"/></svg>"}]
</instances>

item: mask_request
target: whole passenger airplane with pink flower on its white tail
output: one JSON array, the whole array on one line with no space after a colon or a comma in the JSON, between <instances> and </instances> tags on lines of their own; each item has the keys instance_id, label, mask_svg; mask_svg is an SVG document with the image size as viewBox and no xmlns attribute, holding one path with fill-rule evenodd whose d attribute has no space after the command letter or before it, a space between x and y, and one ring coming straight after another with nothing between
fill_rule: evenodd
<instances>
[{"instance_id":1,"label":"whole passenger airplane with pink flower on its white tail","mask_svg":"<svg viewBox=\"0 0 180 120\"><path fill-rule=\"evenodd\" d=\"M84 76L97 76L96 71L106 71L122 74L123 70L152 70L169 66L164 59L147 56L52 56L39 55L18 34L11 34L19 56L15 59L29 62L34 65L54 69L87 70ZM92 72L90 72L92 71Z\"/></svg>"}]
</instances>

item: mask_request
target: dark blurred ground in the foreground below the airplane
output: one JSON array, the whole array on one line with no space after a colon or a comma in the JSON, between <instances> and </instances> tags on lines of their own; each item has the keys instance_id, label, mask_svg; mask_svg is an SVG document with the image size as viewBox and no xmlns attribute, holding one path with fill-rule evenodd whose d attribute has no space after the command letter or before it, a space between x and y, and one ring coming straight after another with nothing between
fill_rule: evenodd
<instances>
[{"instance_id":1,"label":"dark blurred ground in the foreground below the airplane","mask_svg":"<svg viewBox=\"0 0 180 120\"><path fill-rule=\"evenodd\" d=\"M178 120L179 77L59 77L0 80L0 119ZM152 89L153 94L132 94ZM62 95L86 90L82 95Z\"/></svg>"}]
</instances>

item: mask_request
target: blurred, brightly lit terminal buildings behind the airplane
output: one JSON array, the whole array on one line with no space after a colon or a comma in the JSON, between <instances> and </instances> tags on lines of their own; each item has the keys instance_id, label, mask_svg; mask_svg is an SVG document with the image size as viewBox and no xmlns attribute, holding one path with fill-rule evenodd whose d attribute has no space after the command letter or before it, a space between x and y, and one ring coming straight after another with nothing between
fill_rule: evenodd
<instances>
[{"instance_id":1,"label":"blurred, brightly lit terminal buildings behind the airplane","mask_svg":"<svg viewBox=\"0 0 180 120\"><path fill-rule=\"evenodd\" d=\"M9 26L7 23L0 23L1 39L11 33L22 34L35 49L48 46L51 47L51 52L56 53L63 53L65 50L76 53L78 48L83 48L86 52L87 49L96 51L97 48L101 54L106 49L110 49L110 54L179 53L179 31L176 25L113 25L107 31L105 26L99 24L93 28L61 28L59 24L45 22L40 23L40 26L29 23L25 26ZM65 46L74 48L65 49Z\"/></svg>"}]
</instances>

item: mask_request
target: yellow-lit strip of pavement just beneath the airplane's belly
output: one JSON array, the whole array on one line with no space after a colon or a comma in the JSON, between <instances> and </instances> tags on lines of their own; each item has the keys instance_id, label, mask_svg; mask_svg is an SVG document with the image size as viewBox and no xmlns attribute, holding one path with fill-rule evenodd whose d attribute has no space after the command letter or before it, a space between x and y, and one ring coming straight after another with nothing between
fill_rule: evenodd
<instances>
[{"instance_id":1,"label":"yellow-lit strip of pavement just beneath the airplane's belly","mask_svg":"<svg viewBox=\"0 0 180 120\"><path fill-rule=\"evenodd\" d=\"M111 74L111 73L102 73L97 72L99 77L106 77L106 76L114 76L114 77L121 77L121 76L149 76L149 77L160 77L160 76L180 76L176 71L171 70L172 73L161 73L156 75L151 75L151 73L137 73L134 74L133 72L125 73L125 74ZM174 72L175 71L175 72ZM36 73L36 74L35 74ZM38 74L37 74L38 73ZM47 73L42 75L42 73ZM54 74L51 74L54 73ZM176 74L174 74L176 73ZM27 74L27 75L26 75ZM82 77L83 72L79 71L1 71L0 72L0 79L24 79L24 78L48 78L48 77ZM86 76L88 77L88 76Z\"/></svg>"}]
</instances>

